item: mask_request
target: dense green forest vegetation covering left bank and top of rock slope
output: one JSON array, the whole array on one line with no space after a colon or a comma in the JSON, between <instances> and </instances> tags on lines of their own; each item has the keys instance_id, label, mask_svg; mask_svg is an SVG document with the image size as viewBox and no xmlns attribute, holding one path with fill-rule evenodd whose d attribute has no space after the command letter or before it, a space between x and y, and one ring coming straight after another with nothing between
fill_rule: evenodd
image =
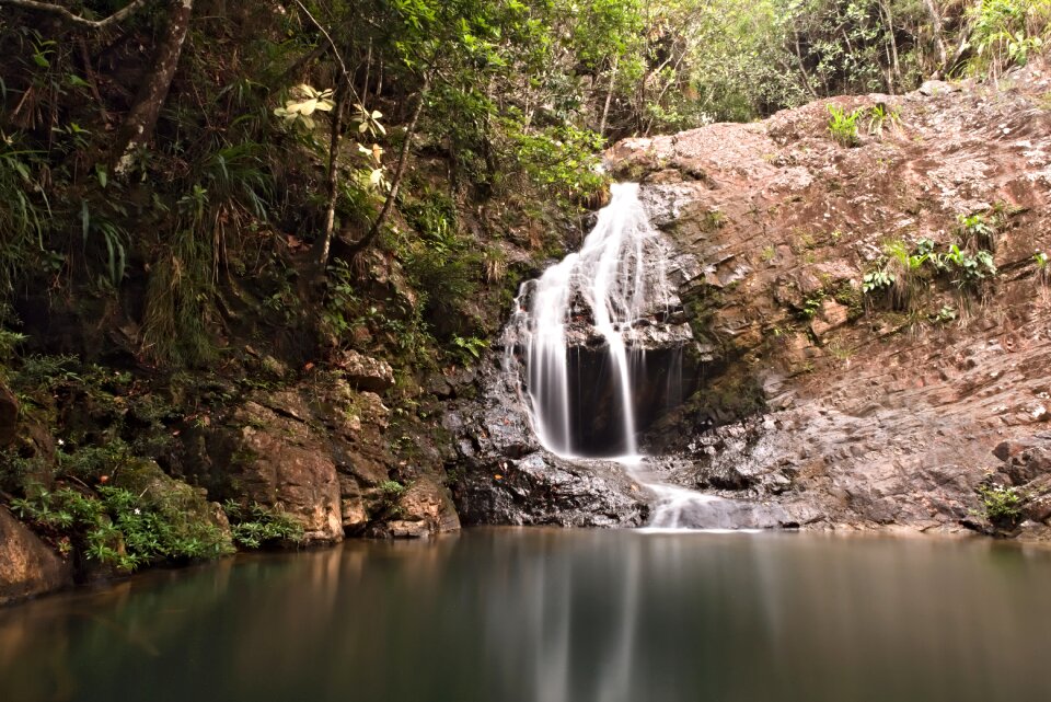
<instances>
[{"instance_id":1,"label":"dense green forest vegetation covering left bank and top of rock slope","mask_svg":"<svg viewBox=\"0 0 1051 702\"><path fill-rule=\"evenodd\" d=\"M166 513L104 479L163 464L176 427L230 401L209 378L251 390L269 364L356 348L405 385L477 358L601 202L612 140L995 79L1049 18L1048 0L0 0L0 382L59 441L8 449L0 495L100 555L126 517L135 541L129 509ZM230 508L240 543L294 536L253 510ZM227 548L164 525L111 555Z\"/></svg>"}]
</instances>

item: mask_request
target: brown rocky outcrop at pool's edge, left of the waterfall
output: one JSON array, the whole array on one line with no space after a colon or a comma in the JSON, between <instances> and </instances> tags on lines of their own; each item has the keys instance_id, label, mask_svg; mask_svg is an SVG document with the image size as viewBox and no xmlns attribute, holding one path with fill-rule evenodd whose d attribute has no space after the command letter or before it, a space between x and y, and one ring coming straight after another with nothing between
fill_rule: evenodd
<instances>
[{"instance_id":1,"label":"brown rocky outcrop at pool's edge, left of the waterfall","mask_svg":"<svg viewBox=\"0 0 1051 702\"><path fill-rule=\"evenodd\" d=\"M362 359L362 356L355 356ZM371 384L362 380L376 370ZM399 461L390 451L390 410L378 394L385 364L319 373L279 391L259 391L205 431L197 480L212 495L281 509L308 543L345 536L425 537L460 528L440 458ZM371 372L371 370L369 371ZM393 377L392 377L393 379Z\"/></svg>"}]
</instances>

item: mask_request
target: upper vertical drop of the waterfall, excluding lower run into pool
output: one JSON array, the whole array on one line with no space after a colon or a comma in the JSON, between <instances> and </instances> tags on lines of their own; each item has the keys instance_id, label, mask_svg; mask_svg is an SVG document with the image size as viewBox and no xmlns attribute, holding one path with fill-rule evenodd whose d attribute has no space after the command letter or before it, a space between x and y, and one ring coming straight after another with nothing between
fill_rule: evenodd
<instances>
[{"instance_id":1,"label":"upper vertical drop of the waterfall, excluding lower run into pool","mask_svg":"<svg viewBox=\"0 0 1051 702\"><path fill-rule=\"evenodd\" d=\"M524 368L533 429L547 450L564 458L610 456L611 447L581 438L582 425L604 421L614 426L616 453L638 453L634 395L646 371L640 330L662 322L678 304L666 260L638 184L620 183L580 251L522 286L508 325L506 367ZM582 354L598 355L604 367L592 370L592 379L601 373L608 383L584 387L580 364L594 361L582 361Z\"/></svg>"}]
</instances>

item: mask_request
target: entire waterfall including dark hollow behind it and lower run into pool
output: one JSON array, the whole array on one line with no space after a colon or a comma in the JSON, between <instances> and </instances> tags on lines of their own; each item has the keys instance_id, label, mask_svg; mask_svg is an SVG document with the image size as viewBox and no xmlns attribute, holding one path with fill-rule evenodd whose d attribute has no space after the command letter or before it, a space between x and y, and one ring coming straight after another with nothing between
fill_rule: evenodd
<instances>
[{"instance_id":1,"label":"entire waterfall including dark hollow behind it and lower run into pool","mask_svg":"<svg viewBox=\"0 0 1051 702\"><path fill-rule=\"evenodd\" d=\"M545 449L616 460L649 488L650 529L737 528L752 521L747 505L659 482L639 456L637 431L690 389L682 348L692 334L671 321L681 302L669 258L639 186L613 185L580 251L522 285L505 370Z\"/></svg>"}]
</instances>

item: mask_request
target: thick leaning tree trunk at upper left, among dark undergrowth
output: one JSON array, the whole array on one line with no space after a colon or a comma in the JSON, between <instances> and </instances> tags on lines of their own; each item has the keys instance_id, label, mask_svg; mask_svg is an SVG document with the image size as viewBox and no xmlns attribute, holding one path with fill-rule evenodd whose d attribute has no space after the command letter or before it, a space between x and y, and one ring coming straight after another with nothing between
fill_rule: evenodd
<instances>
[{"instance_id":1,"label":"thick leaning tree trunk at upper left, among dark undergrowth","mask_svg":"<svg viewBox=\"0 0 1051 702\"><path fill-rule=\"evenodd\" d=\"M157 118L168 97L175 69L178 67L178 56L189 31L194 0L173 0L170 4L168 31L154 51L153 70L139 89L139 94L117 133L111 153L113 171L118 177L127 174L136 150L149 143L153 135L153 127L157 126Z\"/></svg>"}]
</instances>

